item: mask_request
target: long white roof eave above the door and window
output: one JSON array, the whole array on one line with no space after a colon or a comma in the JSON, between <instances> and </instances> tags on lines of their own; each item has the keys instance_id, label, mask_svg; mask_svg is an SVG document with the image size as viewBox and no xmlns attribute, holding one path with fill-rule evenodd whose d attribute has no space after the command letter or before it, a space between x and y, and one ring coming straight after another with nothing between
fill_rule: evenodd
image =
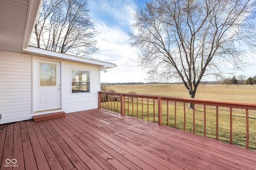
<instances>
[{"instance_id":1,"label":"long white roof eave above the door and window","mask_svg":"<svg viewBox=\"0 0 256 170\"><path fill-rule=\"evenodd\" d=\"M84 57L76 57L73 55L58 53L58 52L49 51L46 49L40 49L40 48L36 48L36 47L28 47L26 49L23 49L23 53L29 54L29 55L36 55L36 56L40 56L40 57L47 57L49 59L70 61L73 63L88 64L88 65L92 65L92 66L103 66L102 68L104 68L104 69L114 68L117 66L116 64L113 64L113 63L107 63L107 62L103 62L103 61L87 59Z\"/></svg>"}]
</instances>

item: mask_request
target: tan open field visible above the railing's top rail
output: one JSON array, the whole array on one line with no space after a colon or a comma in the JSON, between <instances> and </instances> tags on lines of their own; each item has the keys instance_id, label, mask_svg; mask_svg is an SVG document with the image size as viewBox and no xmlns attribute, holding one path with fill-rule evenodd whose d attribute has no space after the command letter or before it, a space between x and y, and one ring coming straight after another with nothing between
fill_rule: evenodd
<instances>
[{"instance_id":1,"label":"tan open field visible above the railing's top rail","mask_svg":"<svg viewBox=\"0 0 256 170\"><path fill-rule=\"evenodd\" d=\"M119 93L134 91L136 94L189 98L183 84L111 85L109 88ZM255 103L256 86L200 84L196 91L196 98Z\"/></svg>"}]
</instances>

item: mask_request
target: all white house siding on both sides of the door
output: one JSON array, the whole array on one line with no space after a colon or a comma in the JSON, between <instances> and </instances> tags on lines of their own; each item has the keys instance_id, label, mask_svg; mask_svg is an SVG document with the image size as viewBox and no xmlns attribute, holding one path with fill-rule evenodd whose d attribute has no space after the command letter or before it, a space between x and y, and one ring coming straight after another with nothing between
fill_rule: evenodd
<instances>
[{"instance_id":1,"label":"all white house siding on both sides of the door","mask_svg":"<svg viewBox=\"0 0 256 170\"><path fill-rule=\"evenodd\" d=\"M31 55L0 51L0 124L32 119L34 115L47 113L32 113L32 61ZM99 67L68 61L60 62L62 111L71 113L98 108ZM72 69L90 71L90 92L72 94Z\"/></svg>"}]
</instances>

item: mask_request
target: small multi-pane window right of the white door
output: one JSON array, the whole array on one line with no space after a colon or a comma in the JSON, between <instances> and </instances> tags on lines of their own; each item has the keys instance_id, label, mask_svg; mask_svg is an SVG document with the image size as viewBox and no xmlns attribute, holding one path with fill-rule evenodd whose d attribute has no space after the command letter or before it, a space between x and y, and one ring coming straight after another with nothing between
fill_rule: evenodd
<instances>
[{"instance_id":1,"label":"small multi-pane window right of the white door","mask_svg":"<svg viewBox=\"0 0 256 170\"><path fill-rule=\"evenodd\" d=\"M90 92L90 71L72 70L72 93Z\"/></svg>"}]
</instances>

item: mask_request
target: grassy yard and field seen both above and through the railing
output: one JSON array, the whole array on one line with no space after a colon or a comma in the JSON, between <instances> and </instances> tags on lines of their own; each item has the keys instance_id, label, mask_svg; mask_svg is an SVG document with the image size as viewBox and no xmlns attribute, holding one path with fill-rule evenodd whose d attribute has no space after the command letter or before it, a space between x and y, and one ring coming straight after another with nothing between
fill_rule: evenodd
<instances>
[{"instance_id":1,"label":"grassy yard and field seen both above and through the railing","mask_svg":"<svg viewBox=\"0 0 256 170\"><path fill-rule=\"evenodd\" d=\"M182 84L146 84L146 85L112 85L109 88L120 93L136 92L136 94L150 94L160 96L173 96L188 98L188 92ZM256 101L256 86L236 86L236 85L200 85L196 94L196 98L210 99L210 100L227 100L238 102L252 102ZM142 119L142 99L129 98L125 102L125 114L134 115ZM118 103L120 104L120 102ZM115 104L115 111L117 112L117 104ZM133 106L133 108L132 108ZM104 106L105 107L105 106ZM204 135L204 107L200 105L195 106L195 133ZM108 109L108 108L106 108ZM110 107L109 107L110 109ZM118 110L120 106L118 107ZM128 110L129 109L129 110ZM112 104L112 111L114 104ZM155 107L155 115L153 109L153 100L143 100L143 119L154 121L158 123L157 104ZM118 111L119 112L119 111ZM167 116L167 102L163 102L162 106L162 122L163 125L174 127L174 102L168 102L168 116ZM149 116L148 116L149 115ZM176 128L184 129L184 107L182 103L177 103ZM230 111L229 108L219 107L218 114L218 140L229 143L230 142ZM246 119L244 109L233 109L232 114L232 135L233 144L241 147L246 147ZM186 131L193 133L193 110L186 109ZM206 137L216 139L216 107L206 106ZM249 110L249 149L256 150L256 111Z\"/></svg>"}]
</instances>

